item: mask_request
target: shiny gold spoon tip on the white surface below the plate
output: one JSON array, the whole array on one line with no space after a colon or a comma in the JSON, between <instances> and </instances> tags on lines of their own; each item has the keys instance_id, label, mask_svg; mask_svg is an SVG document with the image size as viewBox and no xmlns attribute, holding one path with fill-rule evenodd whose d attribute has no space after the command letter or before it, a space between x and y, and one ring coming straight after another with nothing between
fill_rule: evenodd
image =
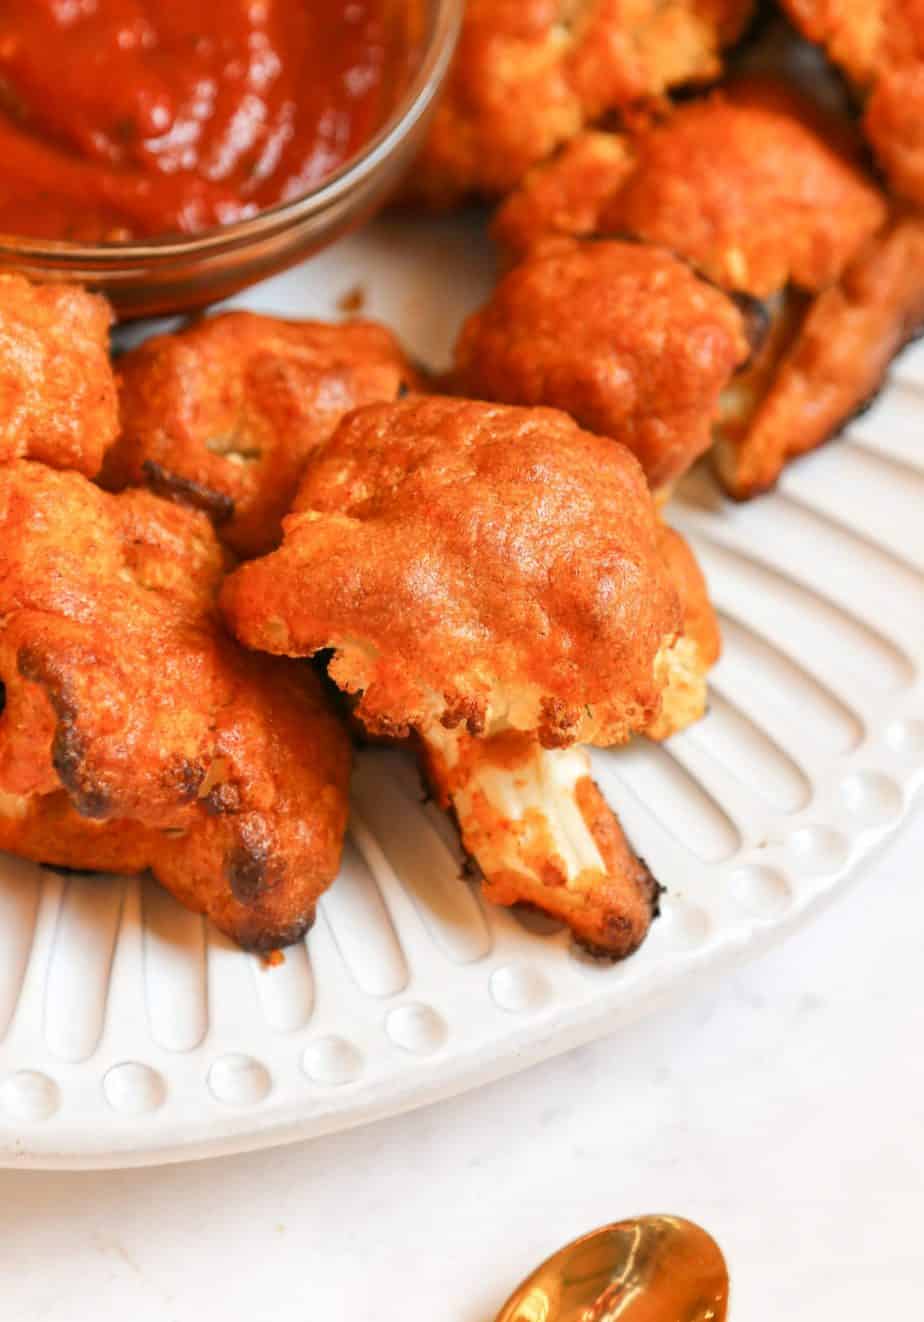
<instances>
[{"instance_id":1,"label":"shiny gold spoon tip on the white surface below the plate","mask_svg":"<svg viewBox=\"0 0 924 1322\"><path fill-rule=\"evenodd\" d=\"M702 1227L637 1216L566 1244L527 1276L496 1322L724 1322L728 1269Z\"/></svg>"}]
</instances>

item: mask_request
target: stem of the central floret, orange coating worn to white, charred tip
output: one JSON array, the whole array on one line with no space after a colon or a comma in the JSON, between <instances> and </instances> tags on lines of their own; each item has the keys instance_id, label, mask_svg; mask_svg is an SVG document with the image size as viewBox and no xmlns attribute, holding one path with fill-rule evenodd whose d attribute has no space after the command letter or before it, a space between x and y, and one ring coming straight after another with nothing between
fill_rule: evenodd
<instances>
[{"instance_id":1,"label":"stem of the central floret, orange coating worn to white, charred tip","mask_svg":"<svg viewBox=\"0 0 924 1322\"><path fill-rule=\"evenodd\" d=\"M550 816L545 809L553 796L542 795L543 763L562 755L543 754L534 735L512 730L488 739L463 735L452 767L435 748L422 747L438 801L456 810L463 845L481 865L486 899L550 914L567 923L582 945L609 958L625 958L638 948L657 915L661 887L632 851L583 752L568 751L568 758L580 760L567 792L555 787ZM498 784L506 793L492 798L486 789ZM510 810L517 806L518 813ZM562 836L563 812L571 817ZM563 857L562 849L574 850L582 834L578 859Z\"/></svg>"}]
</instances>

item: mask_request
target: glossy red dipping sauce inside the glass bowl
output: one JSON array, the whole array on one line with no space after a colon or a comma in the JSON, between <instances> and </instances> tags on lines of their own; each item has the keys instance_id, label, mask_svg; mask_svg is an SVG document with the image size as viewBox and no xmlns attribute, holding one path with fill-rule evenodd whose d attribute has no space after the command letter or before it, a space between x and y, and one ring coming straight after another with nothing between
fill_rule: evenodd
<instances>
[{"instance_id":1,"label":"glossy red dipping sauce inside the glass bowl","mask_svg":"<svg viewBox=\"0 0 924 1322\"><path fill-rule=\"evenodd\" d=\"M190 234L307 192L393 103L390 0L1 0L0 233Z\"/></svg>"}]
</instances>

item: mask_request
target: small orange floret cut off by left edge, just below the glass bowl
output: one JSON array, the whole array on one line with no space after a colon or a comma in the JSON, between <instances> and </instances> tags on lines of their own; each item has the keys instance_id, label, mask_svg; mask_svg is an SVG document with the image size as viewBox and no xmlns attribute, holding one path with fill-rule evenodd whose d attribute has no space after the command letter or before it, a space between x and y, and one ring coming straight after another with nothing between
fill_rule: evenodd
<instances>
[{"instance_id":1,"label":"small orange floret cut off by left edge, just below the glass bowl","mask_svg":"<svg viewBox=\"0 0 924 1322\"><path fill-rule=\"evenodd\" d=\"M0 275L0 464L99 472L119 430L111 323L86 290Z\"/></svg>"}]
</instances>

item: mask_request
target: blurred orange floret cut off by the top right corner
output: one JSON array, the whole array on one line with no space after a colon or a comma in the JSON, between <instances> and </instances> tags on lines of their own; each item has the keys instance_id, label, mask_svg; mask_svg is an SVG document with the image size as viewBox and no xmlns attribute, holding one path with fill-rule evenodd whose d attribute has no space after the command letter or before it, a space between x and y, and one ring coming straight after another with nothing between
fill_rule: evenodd
<instances>
[{"instance_id":1,"label":"blurred orange floret cut off by the top right corner","mask_svg":"<svg viewBox=\"0 0 924 1322\"><path fill-rule=\"evenodd\" d=\"M866 98L863 127L895 192L924 205L924 0L784 0Z\"/></svg>"}]
</instances>

